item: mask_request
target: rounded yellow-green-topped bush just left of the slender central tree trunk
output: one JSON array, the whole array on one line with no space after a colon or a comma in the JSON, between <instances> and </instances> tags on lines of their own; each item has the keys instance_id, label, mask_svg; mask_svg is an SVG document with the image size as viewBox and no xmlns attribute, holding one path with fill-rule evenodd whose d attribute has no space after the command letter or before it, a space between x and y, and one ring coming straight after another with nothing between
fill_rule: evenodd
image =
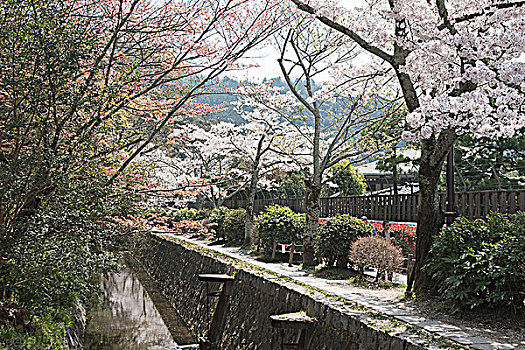
<instances>
[{"instance_id":1,"label":"rounded yellow-green-topped bush just left of the slender central tree trunk","mask_svg":"<svg viewBox=\"0 0 525 350\"><path fill-rule=\"evenodd\" d=\"M304 214L296 214L288 207L273 205L257 217L257 235L266 250L272 248L273 241L291 243L302 241L305 224Z\"/></svg>"}]
</instances>

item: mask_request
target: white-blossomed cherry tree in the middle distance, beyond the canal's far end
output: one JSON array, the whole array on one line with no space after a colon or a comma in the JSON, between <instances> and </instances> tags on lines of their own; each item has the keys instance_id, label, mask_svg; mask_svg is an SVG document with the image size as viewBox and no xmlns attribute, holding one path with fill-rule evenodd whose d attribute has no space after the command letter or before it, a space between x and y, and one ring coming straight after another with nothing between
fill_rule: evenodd
<instances>
[{"instance_id":1,"label":"white-blossomed cherry tree in the middle distance, beyond the canal's far end","mask_svg":"<svg viewBox=\"0 0 525 350\"><path fill-rule=\"evenodd\" d=\"M217 123L208 130L195 125L182 125L170 137L176 149L173 158L164 151L155 152L148 160L167 185L164 191L186 191L206 198L215 208L233 196L246 196L245 244L250 244L253 230L254 201L259 187L269 188L265 176L277 167L289 170L293 163L278 156L273 149L291 131L292 126L280 120L271 109L253 103L253 95L271 91L265 85L246 86L235 93L235 103L244 124ZM170 189L171 188L171 189Z\"/></svg>"}]
</instances>

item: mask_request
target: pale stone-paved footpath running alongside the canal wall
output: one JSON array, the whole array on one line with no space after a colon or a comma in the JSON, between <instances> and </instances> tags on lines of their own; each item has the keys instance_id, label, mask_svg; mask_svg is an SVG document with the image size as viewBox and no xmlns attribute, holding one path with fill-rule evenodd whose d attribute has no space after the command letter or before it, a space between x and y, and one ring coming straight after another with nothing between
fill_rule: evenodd
<instances>
[{"instance_id":1,"label":"pale stone-paved footpath running alongside the canal wall","mask_svg":"<svg viewBox=\"0 0 525 350\"><path fill-rule=\"evenodd\" d=\"M414 327L423 328L429 332L448 338L451 341L457 342L464 346L468 346L472 349L525 349L525 343L523 342L521 342L521 344L498 343L485 337L472 335L467 330L461 329L457 326L450 325L441 321L434 321L422 317L420 315L414 314L410 311L392 307L387 302L373 300L363 297L362 295L351 293L347 289L345 289L344 286L334 285L333 280L328 281L322 278L315 277L309 271L298 270L295 267L288 267L287 263L265 263L262 261L255 260L253 256L250 256L246 251L243 251L237 247L209 245L208 241L190 239L180 235L173 236L177 239L191 242L192 244L198 245L200 247L204 247L228 255L232 258L242 260L246 263L264 268L283 277L287 277L297 282L310 285L328 294L336 295L338 297L342 297L355 303L361 304L377 312L391 316L400 322L404 322Z\"/></svg>"}]
</instances>

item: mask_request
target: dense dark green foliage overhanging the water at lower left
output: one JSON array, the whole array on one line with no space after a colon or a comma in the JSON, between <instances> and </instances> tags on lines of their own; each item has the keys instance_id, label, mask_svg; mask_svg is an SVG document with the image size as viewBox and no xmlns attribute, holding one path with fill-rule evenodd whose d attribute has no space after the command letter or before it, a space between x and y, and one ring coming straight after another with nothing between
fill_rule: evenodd
<instances>
[{"instance_id":1,"label":"dense dark green foliage overhanging the water at lower left","mask_svg":"<svg viewBox=\"0 0 525 350\"><path fill-rule=\"evenodd\" d=\"M98 274L116 266L115 247L121 246L125 232L107 217L129 208L125 197L110 196L111 188L94 174L49 180L56 186L52 195L42 198L31 215L0 230L0 295L27 312L42 335L36 349L61 341L73 305L86 303L98 291ZM19 189L19 181L11 189ZM2 332L9 335L8 330Z\"/></svg>"}]
</instances>

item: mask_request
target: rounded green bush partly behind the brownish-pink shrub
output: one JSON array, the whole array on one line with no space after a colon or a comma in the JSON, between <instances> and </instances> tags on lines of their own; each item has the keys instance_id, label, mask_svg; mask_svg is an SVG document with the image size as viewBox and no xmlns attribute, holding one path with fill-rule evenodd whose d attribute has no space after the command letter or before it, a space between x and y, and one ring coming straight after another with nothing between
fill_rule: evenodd
<instances>
[{"instance_id":1,"label":"rounded green bush partly behind the brownish-pink shrub","mask_svg":"<svg viewBox=\"0 0 525 350\"><path fill-rule=\"evenodd\" d=\"M321 223L317 232L316 255L326 266L337 263L339 267L346 267L352 243L372 233L369 224L348 214L328 218Z\"/></svg>"}]
</instances>

